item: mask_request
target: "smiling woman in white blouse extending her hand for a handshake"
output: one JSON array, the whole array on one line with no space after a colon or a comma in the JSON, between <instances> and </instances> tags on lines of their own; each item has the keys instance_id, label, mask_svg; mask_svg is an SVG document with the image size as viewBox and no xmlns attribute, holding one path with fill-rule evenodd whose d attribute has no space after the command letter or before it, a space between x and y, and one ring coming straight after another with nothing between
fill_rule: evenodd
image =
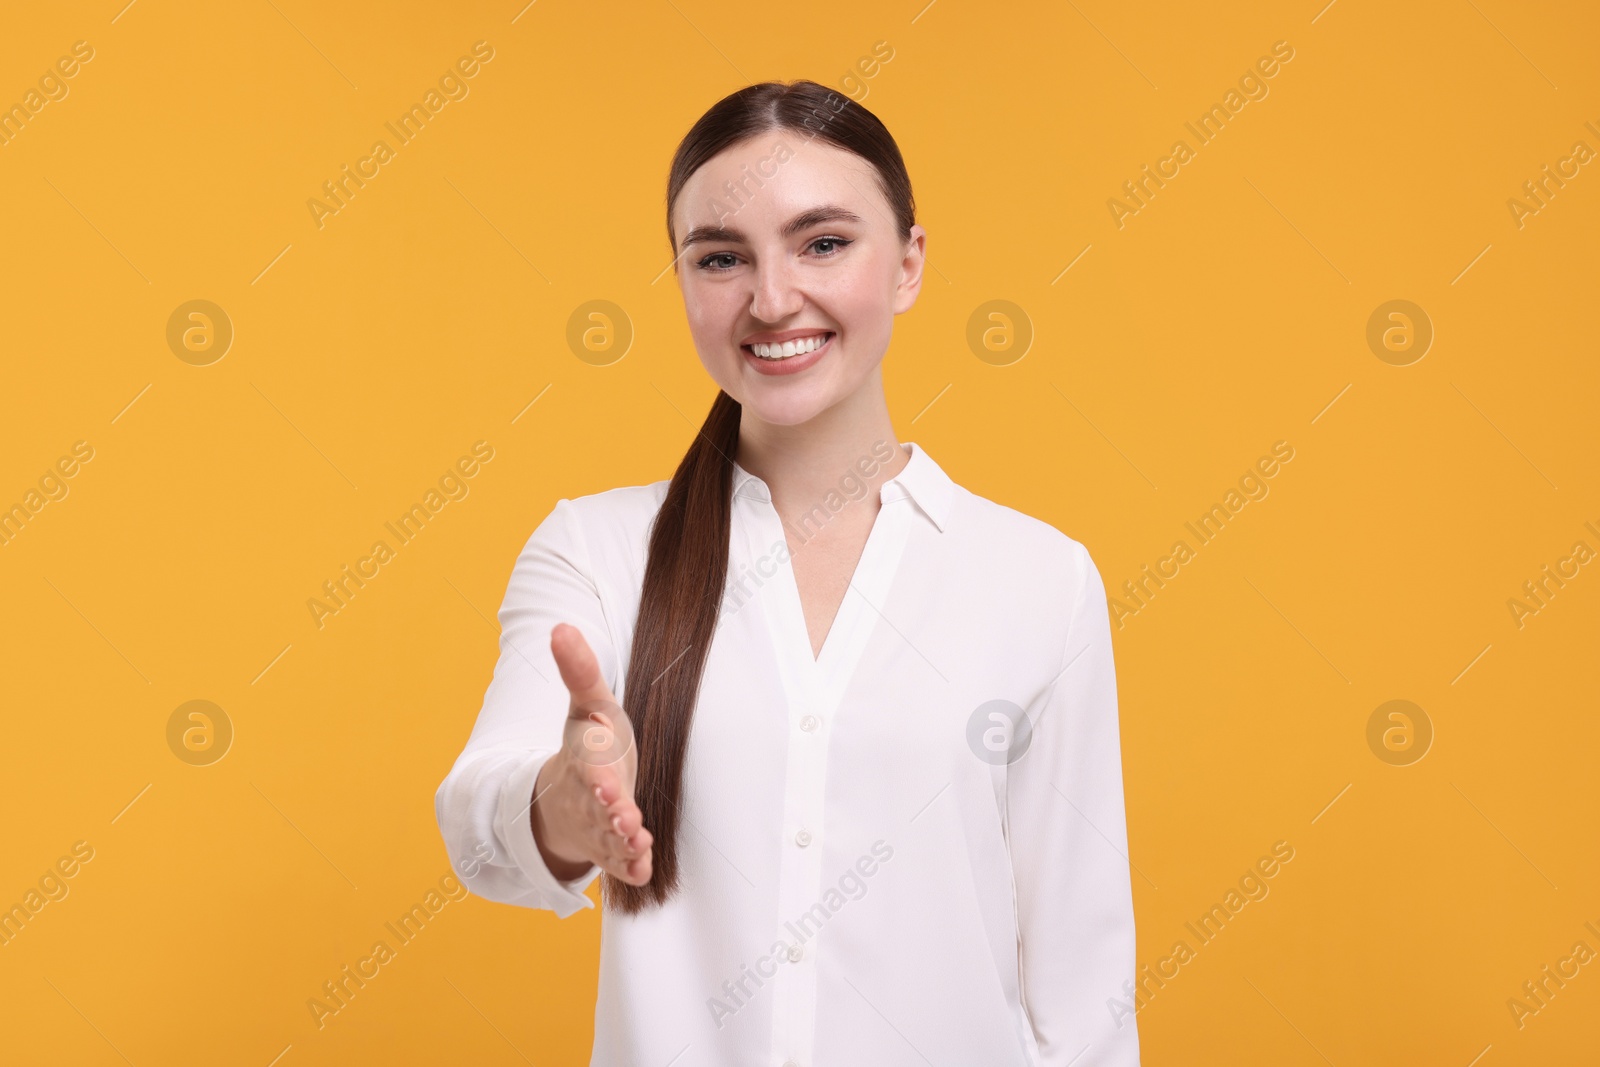
<instances>
[{"instance_id":1,"label":"smiling woman in white blouse extending her hand for a handshake","mask_svg":"<svg viewBox=\"0 0 1600 1067\"><path fill-rule=\"evenodd\" d=\"M603 872L594 1064L1138 1064L1104 585L894 435L899 149L749 86L678 146L667 235L722 390L670 482L528 539L451 861L560 917Z\"/></svg>"}]
</instances>

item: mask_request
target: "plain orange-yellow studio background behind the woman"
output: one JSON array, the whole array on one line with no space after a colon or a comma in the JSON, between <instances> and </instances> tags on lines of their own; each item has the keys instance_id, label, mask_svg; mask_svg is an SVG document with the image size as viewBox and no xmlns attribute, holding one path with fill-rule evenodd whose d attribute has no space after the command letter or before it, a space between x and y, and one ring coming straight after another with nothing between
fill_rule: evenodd
<instances>
[{"instance_id":1,"label":"plain orange-yellow studio background behind the woman","mask_svg":"<svg viewBox=\"0 0 1600 1067\"><path fill-rule=\"evenodd\" d=\"M1600 965L1507 1008L1600 950L1600 568L1507 608L1600 549L1597 165L1507 208L1600 149L1592 8L122 3L0 35L0 104L93 48L0 146L0 506L93 448L0 545L0 904L93 849L0 947L0 1059L587 1062L595 912L450 901L322 1029L307 1000L448 872L434 790L528 533L667 477L710 403L658 280L677 141L886 42L850 86L930 230L886 357L901 437L1114 593L1294 450L1115 632L1141 965L1294 848L1141 1006L1146 1062L1592 1061ZM307 200L480 40L469 94L318 227ZM1269 94L1197 146L1280 40ZM194 299L234 330L203 366L166 341ZM568 346L595 299L619 360ZM1405 366L1366 341L1392 299L1435 331ZM989 301L1021 358L970 347ZM469 494L318 627L307 600L480 440ZM197 699L234 731L206 766L168 744ZM1405 766L1368 745L1392 699L1434 733Z\"/></svg>"}]
</instances>

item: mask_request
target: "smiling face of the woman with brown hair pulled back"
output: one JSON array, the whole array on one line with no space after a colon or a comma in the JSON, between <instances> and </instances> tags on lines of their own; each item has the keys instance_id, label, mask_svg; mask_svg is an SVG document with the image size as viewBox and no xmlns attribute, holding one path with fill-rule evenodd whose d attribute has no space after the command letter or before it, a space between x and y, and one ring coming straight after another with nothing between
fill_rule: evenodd
<instances>
[{"instance_id":1,"label":"smiling face of the woman with brown hair pulled back","mask_svg":"<svg viewBox=\"0 0 1600 1067\"><path fill-rule=\"evenodd\" d=\"M870 163L771 130L694 171L672 221L694 347L746 414L797 426L877 381L926 237L901 240Z\"/></svg>"}]
</instances>

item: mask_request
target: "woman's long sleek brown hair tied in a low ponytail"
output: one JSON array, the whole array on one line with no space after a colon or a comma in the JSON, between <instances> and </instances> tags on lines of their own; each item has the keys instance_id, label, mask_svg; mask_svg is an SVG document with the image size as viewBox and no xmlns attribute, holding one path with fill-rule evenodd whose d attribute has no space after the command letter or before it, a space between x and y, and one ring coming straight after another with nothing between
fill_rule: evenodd
<instances>
[{"instance_id":1,"label":"woman's long sleek brown hair tied in a low ponytail","mask_svg":"<svg viewBox=\"0 0 1600 1067\"><path fill-rule=\"evenodd\" d=\"M690 176L723 149L774 130L824 141L872 163L896 229L902 240L910 240L915 224L910 176L877 115L816 82L763 82L717 101L678 144L667 176L667 240L674 256L678 248L672 208ZM738 189L730 189L733 211L744 205L744 197L758 197L760 186L760 178L747 174ZM606 901L627 913L664 904L678 888L683 753L728 576L739 414L739 402L718 390L706 424L672 475L650 534L622 694L638 744L634 798L654 838L653 869L643 886L611 875L603 880Z\"/></svg>"}]
</instances>

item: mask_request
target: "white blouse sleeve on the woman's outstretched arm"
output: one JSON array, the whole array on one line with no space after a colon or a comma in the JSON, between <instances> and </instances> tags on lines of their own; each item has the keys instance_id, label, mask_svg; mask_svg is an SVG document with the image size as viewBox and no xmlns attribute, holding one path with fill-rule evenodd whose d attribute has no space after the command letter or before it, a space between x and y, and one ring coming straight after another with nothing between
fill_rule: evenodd
<instances>
[{"instance_id":1,"label":"white blouse sleeve on the woman's outstretched arm","mask_svg":"<svg viewBox=\"0 0 1600 1067\"><path fill-rule=\"evenodd\" d=\"M472 893L562 918L594 907L584 889L600 872L558 881L533 840L530 803L539 768L562 747L568 712L550 656L557 622L582 632L616 691L616 643L590 574L578 512L558 501L517 557L499 609L494 677L466 749L434 795L451 867Z\"/></svg>"}]
</instances>

